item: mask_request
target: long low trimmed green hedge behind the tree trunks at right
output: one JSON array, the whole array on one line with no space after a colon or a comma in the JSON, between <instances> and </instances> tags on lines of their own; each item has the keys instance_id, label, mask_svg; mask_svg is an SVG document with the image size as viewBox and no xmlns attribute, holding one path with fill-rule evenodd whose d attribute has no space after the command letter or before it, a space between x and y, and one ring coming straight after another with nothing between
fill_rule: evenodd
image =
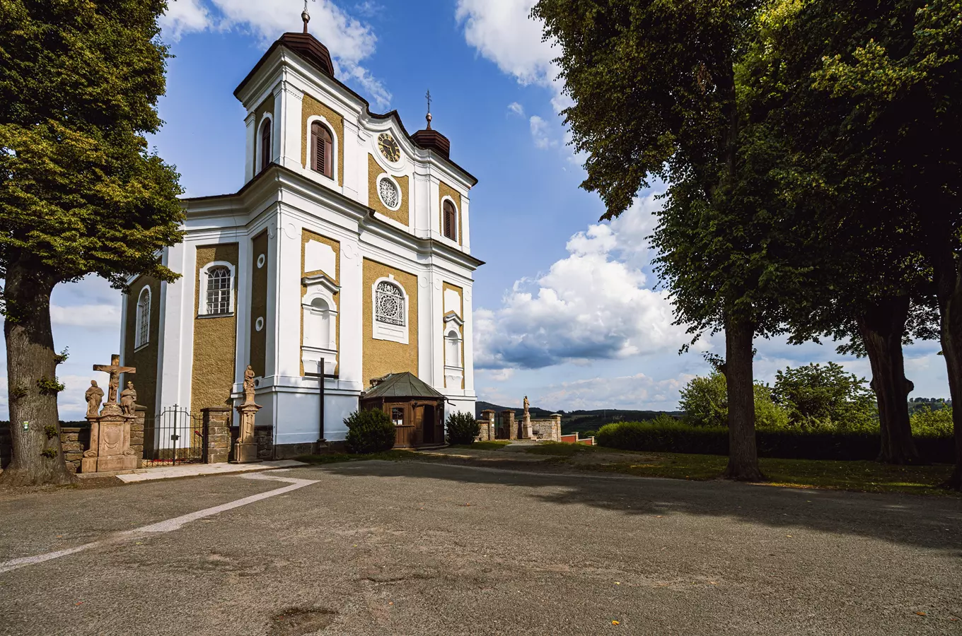
<instances>
[{"instance_id":1,"label":"long low trimmed green hedge behind the tree trunks at right","mask_svg":"<svg viewBox=\"0 0 962 636\"><path fill-rule=\"evenodd\" d=\"M877 432L829 432L792 428L758 429L758 454L781 459L875 459L881 441ZM599 446L624 451L653 453L728 454L728 429L690 427L669 422L618 422L601 427L595 436ZM951 437L915 437L926 462L955 460Z\"/></svg>"}]
</instances>

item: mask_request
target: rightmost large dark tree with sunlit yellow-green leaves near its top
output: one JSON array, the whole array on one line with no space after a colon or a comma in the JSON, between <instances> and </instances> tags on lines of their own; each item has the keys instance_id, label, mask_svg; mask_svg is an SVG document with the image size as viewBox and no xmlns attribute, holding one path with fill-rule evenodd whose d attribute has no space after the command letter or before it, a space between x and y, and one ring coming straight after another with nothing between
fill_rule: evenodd
<instances>
[{"instance_id":1,"label":"rightmost large dark tree with sunlit yellow-green leaves near its top","mask_svg":"<svg viewBox=\"0 0 962 636\"><path fill-rule=\"evenodd\" d=\"M933 297L952 397L962 399L962 2L776 0L767 20L754 79L780 102L768 112L791 148L787 189L816 193L809 208L828 236L820 264L833 305L809 302L828 308L835 333L861 336L881 458L911 461L900 346L928 335Z\"/></svg>"}]
</instances>

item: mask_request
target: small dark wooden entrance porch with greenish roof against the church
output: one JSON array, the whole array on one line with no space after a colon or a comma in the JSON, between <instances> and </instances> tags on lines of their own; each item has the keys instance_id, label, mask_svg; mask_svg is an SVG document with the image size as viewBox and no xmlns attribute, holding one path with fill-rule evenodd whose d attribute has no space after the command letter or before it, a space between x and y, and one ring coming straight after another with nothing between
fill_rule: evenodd
<instances>
[{"instance_id":1,"label":"small dark wooden entrance porch with greenish roof against the church","mask_svg":"<svg viewBox=\"0 0 962 636\"><path fill-rule=\"evenodd\" d=\"M394 448L443 444L444 396L411 373L371 380L360 408L383 410L394 425Z\"/></svg>"}]
</instances>

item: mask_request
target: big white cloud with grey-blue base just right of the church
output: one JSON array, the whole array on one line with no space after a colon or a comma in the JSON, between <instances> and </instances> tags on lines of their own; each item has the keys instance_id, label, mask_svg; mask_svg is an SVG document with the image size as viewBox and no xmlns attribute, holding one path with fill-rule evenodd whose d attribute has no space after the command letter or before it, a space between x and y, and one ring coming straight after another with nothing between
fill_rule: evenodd
<instances>
[{"instance_id":1,"label":"big white cloud with grey-blue base just right of the church","mask_svg":"<svg viewBox=\"0 0 962 636\"><path fill-rule=\"evenodd\" d=\"M688 336L671 324L668 293L643 271L655 208L649 195L614 222L574 234L568 257L516 281L500 307L475 310L475 365L539 369L676 351Z\"/></svg>"}]
</instances>

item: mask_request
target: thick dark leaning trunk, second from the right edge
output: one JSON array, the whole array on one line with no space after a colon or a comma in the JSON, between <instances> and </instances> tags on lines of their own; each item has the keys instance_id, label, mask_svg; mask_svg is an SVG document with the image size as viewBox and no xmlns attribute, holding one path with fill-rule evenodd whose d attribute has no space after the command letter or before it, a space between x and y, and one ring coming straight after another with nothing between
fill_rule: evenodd
<instances>
[{"instance_id":1,"label":"thick dark leaning trunk, second from the right edge","mask_svg":"<svg viewBox=\"0 0 962 636\"><path fill-rule=\"evenodd\" d=\"M886 464L919 463L908 418L908 394L914 387L905 379L902 356L908 309L908 296L891 296L857 321L872 363L872 388L878 401L882 445L876 461Z\"/></svg>"}]
</instances>

